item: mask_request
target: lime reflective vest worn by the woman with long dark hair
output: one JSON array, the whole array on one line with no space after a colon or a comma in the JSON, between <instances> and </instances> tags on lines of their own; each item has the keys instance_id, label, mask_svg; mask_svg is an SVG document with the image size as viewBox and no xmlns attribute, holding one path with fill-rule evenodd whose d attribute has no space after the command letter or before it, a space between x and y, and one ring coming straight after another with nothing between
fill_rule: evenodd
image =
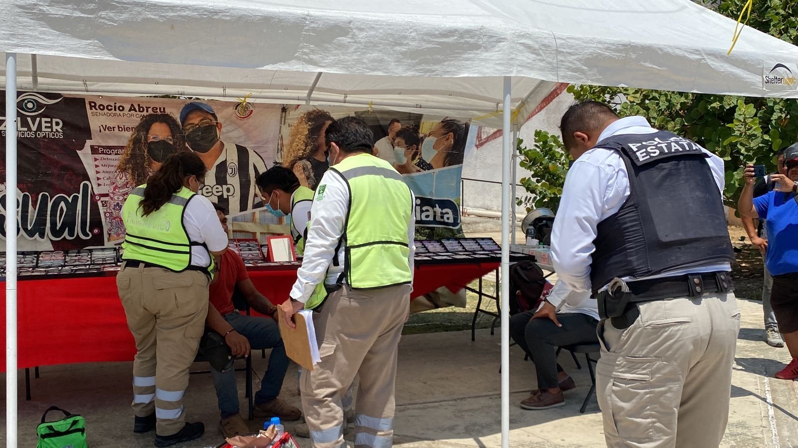
<instances>
[{"instance_id":1,"label":"lime reflective vest worn by the woman with long dark hair","mask_svg":"<svg viewBox=\"0 0 798 448\"><path fill-rule=\"evenodd\" d=\"M210 252L208 255L211 265L207 269L192 266L192 246L205 245L192 242L183 226L183 214L188 201L196 194L183 187L160 209L144 216L140 204L144 199L145 187L147 186L142 185L134 188L122 206L125 229L122 259L144 261L174 272L196 269L211 275L214 261Z\"/></svg>"}]
</instances>

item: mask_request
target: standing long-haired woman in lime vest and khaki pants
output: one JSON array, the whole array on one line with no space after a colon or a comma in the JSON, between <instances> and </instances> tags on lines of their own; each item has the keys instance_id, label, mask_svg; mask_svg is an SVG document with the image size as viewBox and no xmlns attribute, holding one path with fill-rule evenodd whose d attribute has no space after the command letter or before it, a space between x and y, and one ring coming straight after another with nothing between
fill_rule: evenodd
<instances>
[{"instance_id":1,"label":"standing long-haired woman in lime vest and khaki pants","mask_svg":"<svg viewBox=\"0 0 798 448\"><path fill-rule=\"evenodd\" d=\"M196 195L205 171L193 152L170 155L122 207L117 289L136 340L133 431L156 429L155 446L204 432L201 422L185 422L183 395L205 326L214 257L227 249L211 202Z\"/></svg>"}]
</instances>

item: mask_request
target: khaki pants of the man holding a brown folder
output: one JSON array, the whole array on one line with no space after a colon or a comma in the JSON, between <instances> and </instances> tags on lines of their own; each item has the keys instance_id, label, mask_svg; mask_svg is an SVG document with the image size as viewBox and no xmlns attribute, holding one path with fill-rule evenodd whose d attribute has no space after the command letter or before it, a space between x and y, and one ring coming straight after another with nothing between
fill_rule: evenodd
<instances>
[{"instance_id":1,"label":"khaki pants of the man holding a brown folder","mask_svg":"<svg viewBox=\"0 0 798 448\"><path fill-rule=\"evenodd\" d=\"M315 448L346 447L342 398L360 375L355 402L354 446L393 444L394 383L410 286L330 294L313 314L319 355L313 371L302 369L302 410Z\"/></svg>"}]
</instances>

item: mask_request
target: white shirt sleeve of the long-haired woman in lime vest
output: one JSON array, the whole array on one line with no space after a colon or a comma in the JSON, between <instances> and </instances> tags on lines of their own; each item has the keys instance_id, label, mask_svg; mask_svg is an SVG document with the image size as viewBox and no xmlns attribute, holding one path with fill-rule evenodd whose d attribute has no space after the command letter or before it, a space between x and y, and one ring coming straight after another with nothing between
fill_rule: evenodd
<instances>
[{"instance_id":1,"label":"white shirt sleeve of the long-haired woman in lime vest","mask_svg":"<svg viewBox=\"0 0 798 448\"><path fill-rule=\"evenodd\" d=\"M192 242L204 242L211 252L220 252L227 247L227 232L219 222L216 209L203 195L194 195L186 205L183 226ZM192 246L192 265L211 265L211 255L202 246Z\"/></svg>"}]
</instances>

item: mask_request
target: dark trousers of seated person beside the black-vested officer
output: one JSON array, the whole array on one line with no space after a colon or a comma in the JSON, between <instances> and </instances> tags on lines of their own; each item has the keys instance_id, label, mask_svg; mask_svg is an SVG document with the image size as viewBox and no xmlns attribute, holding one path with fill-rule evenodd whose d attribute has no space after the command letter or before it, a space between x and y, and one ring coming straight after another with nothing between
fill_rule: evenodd
<instances>
[{"instance_id":1,"label":"dark trousers of seated person beside the black-vested officer","mask_svg":"<svg viewBox=\"0 0 798 448\"><path fill-rule=\"evenodd\" d=\"M596 325L587 314L567 312L557 315L562 327L547 318L532 319L533 311L520 312L510 317L510 336L535 363L538 389L559 387L557 372L563 367L557 364L557 347L571 344L598 344Z\"/></svg>"}]
</instances>

